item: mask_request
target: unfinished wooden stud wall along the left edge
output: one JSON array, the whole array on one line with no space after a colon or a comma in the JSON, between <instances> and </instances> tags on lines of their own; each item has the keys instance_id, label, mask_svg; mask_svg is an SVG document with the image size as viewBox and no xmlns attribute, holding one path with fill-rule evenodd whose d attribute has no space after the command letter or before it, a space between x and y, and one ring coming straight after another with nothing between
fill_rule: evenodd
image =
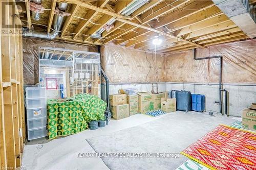
<instances>
[{"instance_id":1,"label":"unfinished wooden stud wall along the left edge","mask_svg":"<svg viewBox=\"0 0 256 170\"><path fill-rule=\"evenodd\" d=\"M26 134L23 133L25 132L25 124L23 124L25 116L22 35L20 34L22 28L15 1L9 0L5 3L8 3L8 8L5 8L6 20L0 24L0 162L2 168L17 169L22 163L24 150L25 136L22 134ZM2 2L0 6L2 6Z\"/></svg>"}]
</instances>

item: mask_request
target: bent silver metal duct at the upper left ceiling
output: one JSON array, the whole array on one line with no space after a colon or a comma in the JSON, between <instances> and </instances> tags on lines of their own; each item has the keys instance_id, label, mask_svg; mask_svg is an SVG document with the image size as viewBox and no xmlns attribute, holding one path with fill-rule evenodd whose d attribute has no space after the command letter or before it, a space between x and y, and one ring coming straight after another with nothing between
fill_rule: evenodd
<instances>
[{"instance_id":1,"label":"bent silver metal duct at the upper left ceiling","mask_svg":"<svg viewBox=\"0 0 256 170\"><path fill-rule=\"evenodd\" d=\"M66 11L68 7L67 3L58 3L58 9L61 11ZM64 16L58 16L57 14L54 15L53 18L53 30L50 32L50 34L44 33L44 32L38 32L38 31L28 31L23 30L23 36L25 37L36 37L36 38L42 38L42 39L54 39L59 34L59 31L62 27Z\"/></svg>"}]
</instances>

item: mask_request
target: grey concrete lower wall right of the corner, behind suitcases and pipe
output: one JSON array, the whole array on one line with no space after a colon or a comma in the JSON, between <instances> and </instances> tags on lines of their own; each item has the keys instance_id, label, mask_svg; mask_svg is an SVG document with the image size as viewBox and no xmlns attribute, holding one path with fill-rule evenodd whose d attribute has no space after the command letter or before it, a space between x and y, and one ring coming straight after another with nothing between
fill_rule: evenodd
<instances>
[{"instance_id":1,"label":"grey concrete lower wall right of the corner, behind suitcases and pipe","mask_svg":"<svg viewBox=\"0 0 256 170\"><path fill-rule=\"evenodd\" d=\"M165 87L166 91L186 90L194 94L204 94L206 98L206 111L219 112L219 104L215 103L215 101L219 101L218 84L206 85L195 83L166 82ZM229 115L241 116L243 109L248 108L251 103L256 103L256 84L224 84L223 88L226 89L229 93Z\"/></svg>"}]
</instances>

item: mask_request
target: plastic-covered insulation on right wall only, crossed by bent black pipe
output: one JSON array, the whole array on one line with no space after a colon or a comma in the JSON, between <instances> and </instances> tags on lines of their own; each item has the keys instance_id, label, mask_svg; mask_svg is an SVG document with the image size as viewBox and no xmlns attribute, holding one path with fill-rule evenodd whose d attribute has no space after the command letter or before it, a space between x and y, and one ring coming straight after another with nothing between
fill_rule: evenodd
<instances>
[{"instance_id":1,"label":"plastic-covered insulation on right wall only, crossed by bent black pipe","mask_svg":"<svg viewBox=\"0 0 256 170\"><path fill-rule=\"evenodd\" d=\"M256 83L256 40L197 48L197 58L223 57L223 83ZM218 83L220 60L194 60L194 52L165 55L167 82Z\"/></svg>"}]
</instances>

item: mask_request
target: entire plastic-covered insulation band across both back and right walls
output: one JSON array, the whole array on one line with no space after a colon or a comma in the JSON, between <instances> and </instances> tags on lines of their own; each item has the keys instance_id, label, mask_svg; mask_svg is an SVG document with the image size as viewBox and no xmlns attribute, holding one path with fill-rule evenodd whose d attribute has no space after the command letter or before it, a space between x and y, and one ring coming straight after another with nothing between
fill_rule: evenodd
<instances>
[{"instance_id":1,"label":"entire plastic-covered insulation band across both back and right walls","mask_svg":"<svg viewBox=\"0 0 256 170\"><path fill-rule=\"evenodd\" d=\"M155 54L118 46L101 48L101 64L111 83L157 82ZM219 59L194 60L193 50L157 55L160 82L218 83ZM223 56L223 83L256 83L256 40L238 41L197 48L197 58ZM153 60L154 59L154 60Z\"/></svg>"}]
</instances>

